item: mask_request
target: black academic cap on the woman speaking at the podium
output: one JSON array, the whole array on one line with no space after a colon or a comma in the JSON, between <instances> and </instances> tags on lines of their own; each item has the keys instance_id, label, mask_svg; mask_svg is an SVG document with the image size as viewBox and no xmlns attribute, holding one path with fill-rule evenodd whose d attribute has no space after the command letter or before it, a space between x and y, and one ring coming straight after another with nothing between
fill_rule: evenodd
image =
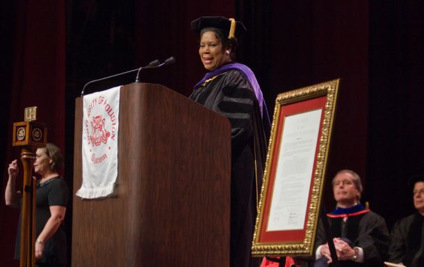
<instances>
[{"instance_id":1,"label":"black academic cap on the woman speaking at the podium","mask_svg":"<svg viewBox=\"0 0 424 267\"><path fill-rule=\"evenodd\" d=\"M243 33L246 30L246 27L243 25L241 21L234 21L235 31L236 33L234 35L238 36L240 33ZM191 29L195 33L200 33L203 28L219 28L220 30L224 31L225 33L228 33L230 35L231 31L231 19L227 19L226 17L199 17L198 19L195 19L191 21ZM231 36L229 36L229 39L231 39Z\"/></svg>"}]
</instances>

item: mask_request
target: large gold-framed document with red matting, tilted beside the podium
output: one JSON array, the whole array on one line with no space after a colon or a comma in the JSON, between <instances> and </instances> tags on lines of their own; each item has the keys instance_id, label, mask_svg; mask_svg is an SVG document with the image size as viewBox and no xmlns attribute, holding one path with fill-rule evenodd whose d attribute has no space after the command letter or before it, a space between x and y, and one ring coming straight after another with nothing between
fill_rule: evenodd
<instances>
[{"instance_id":1,"label":"large gold-framed document with red matting, tilted beside the podium","mask_svg":"<svg viewBox=\"0 0 424 267\"><path fill-rule=\"evenodd\" d=\"M254 256L312 256L339 79L277 96Z\"/></svg>"}]
</instances>

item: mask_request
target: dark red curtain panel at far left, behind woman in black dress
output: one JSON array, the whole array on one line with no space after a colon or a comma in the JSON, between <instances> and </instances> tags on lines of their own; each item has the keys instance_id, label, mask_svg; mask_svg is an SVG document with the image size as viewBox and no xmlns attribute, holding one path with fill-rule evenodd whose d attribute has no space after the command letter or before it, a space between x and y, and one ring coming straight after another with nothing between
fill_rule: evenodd
<instances>
[{"instance_id":1,"label":"dark red curtain panel at far left, behind woman in black dress","mask_svg":"<svg viewBox=\"0 0 424 267\"><path fill-rule=\"evenodd\" d=\"M7 3L5 3L7 2ZM24 121L24 107L38 107L38 121L47 123L48 141L65 150L65 1L3 1L1 24L10 33L3 38L6 105L2 108L5 151L1 158L0 258L13 260L19 211L4 205L8 162L19 158L13 148L13 122ZM4 36L4 35L3 35ZM22 180L22 173L19 179ZM22 182L21 182L22 183ZM69 211L71 212L71 211Z\"/></svg>"}]
</instances>

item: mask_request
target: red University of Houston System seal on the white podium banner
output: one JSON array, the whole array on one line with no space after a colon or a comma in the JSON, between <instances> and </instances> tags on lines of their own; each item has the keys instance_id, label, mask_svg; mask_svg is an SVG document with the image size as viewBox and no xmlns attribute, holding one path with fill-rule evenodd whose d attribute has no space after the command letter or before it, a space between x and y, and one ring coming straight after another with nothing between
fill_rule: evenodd
<instances>
[{"instance_id":1,"label":"red University of Houston System seal on the white podium banner","mask_svg":"<svg viewBox=\"0 0 424 267\"><path fill-rule=\"evenodd\" d=\"M104 96L94 98L84 118L85 140L90 146L93 164L105 162L111 151L108 143L116 141L117 118L109 101Z\"/></svg>"}]
</instances>

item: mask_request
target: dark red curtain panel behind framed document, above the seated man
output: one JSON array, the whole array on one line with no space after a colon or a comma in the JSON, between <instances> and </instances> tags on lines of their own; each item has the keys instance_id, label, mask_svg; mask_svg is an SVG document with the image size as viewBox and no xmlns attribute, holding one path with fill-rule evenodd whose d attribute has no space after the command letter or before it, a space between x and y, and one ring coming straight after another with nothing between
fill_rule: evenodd
<instances>
[{"instance_id":1,"label":"dark red curtain panel behind framed document, above the seated man","mask_svg":"<svg viewBox=\"0 0 424 267\"><path fill-rule=\"evenodd\" d=\"M334 207L329 180L352 169L366 180L368 133L368 3L273 1L270 89L291 89L341 78L324 199ZM265 47L263 49L266 49Z\"/></svg>"}]
</instances>

